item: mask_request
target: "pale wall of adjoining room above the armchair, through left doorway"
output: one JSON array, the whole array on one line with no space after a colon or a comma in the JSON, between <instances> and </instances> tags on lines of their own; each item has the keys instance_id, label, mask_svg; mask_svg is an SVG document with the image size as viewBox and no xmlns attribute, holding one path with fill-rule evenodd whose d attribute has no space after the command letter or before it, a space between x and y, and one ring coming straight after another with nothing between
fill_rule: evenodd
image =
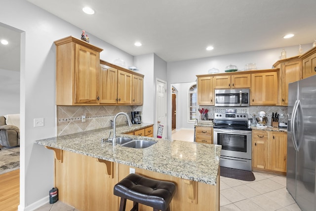
<instances>
[{"instance_id":1,"label":"pale wall of adjoining room above the armchair, through left doorway","mask_svg":"<svg viewBox=\"0 0 316 211\"><path fill-rule=\"evenodd\" d=\"M20 72L0 69L0 116L20 113Z\"/></svg>"}]
</instances>

